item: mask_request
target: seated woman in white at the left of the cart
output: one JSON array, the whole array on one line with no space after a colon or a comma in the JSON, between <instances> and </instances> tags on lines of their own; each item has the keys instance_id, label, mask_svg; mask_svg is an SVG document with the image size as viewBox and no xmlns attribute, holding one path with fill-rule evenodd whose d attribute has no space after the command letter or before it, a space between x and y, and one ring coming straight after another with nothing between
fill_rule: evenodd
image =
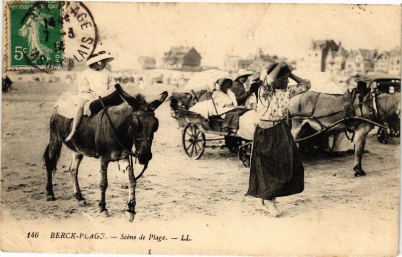
<instances>
[{"instance_id":1,"label":"seated woman in white at the left of the cart","mask_svg":"<svg viewBox=\"0 0 402 257\"><path fill-rule=\"evenodd\" d=\"M224 117L224 113L235 109L237 106L236 96L229 89L231 86L231 79L218 79L215 83L215 87L219 87L219 89L214 90L214 92L212 93L212 99L197 102L192 107L190 107L189 110L199 113L205 118L213 115L221 115L222 117Z\"/></svg>"}]
</instances>

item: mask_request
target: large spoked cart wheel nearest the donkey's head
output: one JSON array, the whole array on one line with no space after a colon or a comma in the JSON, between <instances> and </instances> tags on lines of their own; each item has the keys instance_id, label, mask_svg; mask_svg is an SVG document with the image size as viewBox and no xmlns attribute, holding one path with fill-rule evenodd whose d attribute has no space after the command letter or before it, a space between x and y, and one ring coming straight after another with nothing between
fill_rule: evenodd
<instances>
[{"instance_id":1,"label":"large spoked cart wheel nearest the donkey's head","mask_svg":"<svg viewBox=\"0 0 402 257\"><path fill-rule=\"evenodd\" d=\"M188 123L182 135L184 152L196 160L203 156L205 150L205 134L199 129L196 123Z\"/></svg>"}]
</instances>

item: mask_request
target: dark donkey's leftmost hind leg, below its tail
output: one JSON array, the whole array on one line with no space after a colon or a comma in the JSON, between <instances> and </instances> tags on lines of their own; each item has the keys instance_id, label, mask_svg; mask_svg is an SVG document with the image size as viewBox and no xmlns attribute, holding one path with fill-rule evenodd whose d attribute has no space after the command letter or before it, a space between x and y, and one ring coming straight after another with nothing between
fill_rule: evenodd
<instances>
[{"instance_id":1,"label":"dark donkey's leftmost hind leg, below its tail","mask_svg":"<svg viewBox=\"0 0 402 257\"><path fill-rule=\"evenodd\" d=\"M56 170L57 161L60 157L62 142L57 138L56 134L50 133L49 145L47 145L45 153L43 154L43 160L46 166L47 172L47 201L54 201L56 198L53 193L52 175Z\"/></svg>"}]
</instances>

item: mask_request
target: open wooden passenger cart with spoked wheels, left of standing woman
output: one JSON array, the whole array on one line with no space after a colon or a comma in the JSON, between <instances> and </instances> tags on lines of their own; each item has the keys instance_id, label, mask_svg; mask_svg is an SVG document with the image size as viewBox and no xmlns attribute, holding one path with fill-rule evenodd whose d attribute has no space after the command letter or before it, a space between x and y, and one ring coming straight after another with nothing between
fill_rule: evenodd
<instances>
[{"instance_id":1,"label":"open wooden passenger cart with spoked wheels, left of standing woman","mask_svg":"<svg viewBox=\"0 0 402 257\"><path fill-rule=\"evenodd\" d=\"M225 131L222 128L222 117L210 116L207 119L201 114L180 108L175 111L175 118L182 129L183 150L192 159L201 158L206 148L227 147L231 153L237 153L244 166L249 166L251 141L241 138L235 132ZM207 135L211 137L207 138ZM207 142L212 141L224 141L225 144L207 145Z\"/></svg>"}]
</instances>

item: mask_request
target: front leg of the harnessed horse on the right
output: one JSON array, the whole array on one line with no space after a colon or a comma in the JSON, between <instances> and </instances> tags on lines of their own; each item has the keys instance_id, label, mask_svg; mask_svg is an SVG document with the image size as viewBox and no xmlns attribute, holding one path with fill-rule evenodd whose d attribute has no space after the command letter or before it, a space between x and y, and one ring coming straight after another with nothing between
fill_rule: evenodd
<instances>
[{"instance_id":1,"label":"front leg of the harnessed horse on the right","mask_svg":"<svg viewBox=\"0 0 402 257\"><path fill-rule=\"evenodd\" d=\"M372 125L367 123L360 124L355 130L355 177L365 176L367 173L361 167L361 159L364 154L364 147L366 145L366 138L368 132L372 129Z\"/></svg>"}]
</instances>

